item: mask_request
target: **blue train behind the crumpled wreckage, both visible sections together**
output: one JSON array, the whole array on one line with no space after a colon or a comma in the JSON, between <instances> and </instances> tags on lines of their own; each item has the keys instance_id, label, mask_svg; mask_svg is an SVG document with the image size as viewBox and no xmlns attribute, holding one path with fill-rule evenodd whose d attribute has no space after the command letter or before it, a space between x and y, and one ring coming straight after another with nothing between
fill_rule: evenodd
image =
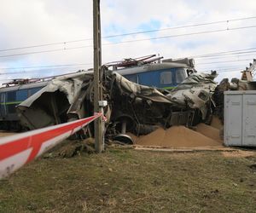
<instances>
[{"instance_id":1,"label":"blue train behind the crumpled wreckage, both visible sections together","mask_svg":"<svg viewBox=\"0 0 256 213\"><path fill-rule=\"evenodd\" d=\"M112 66L115 72L119 72L131 82L161 89L173 89L178 83L183 82L185 78L195 72L193 59L160 60L162 57L154 58L154 56L125 59L108 63L105 67ZM86 73L90 75L92 72ZM22 129L15 107L46 84L47 82L31 83L27 79L20 79L13 81L12 86L9 87L7 84L7 88L0 89L0 130ZM51 98L45 101L49 101L51 106L55 106ZM60 121L56 124L58 123Z\"/></svg>"}]
</instances>

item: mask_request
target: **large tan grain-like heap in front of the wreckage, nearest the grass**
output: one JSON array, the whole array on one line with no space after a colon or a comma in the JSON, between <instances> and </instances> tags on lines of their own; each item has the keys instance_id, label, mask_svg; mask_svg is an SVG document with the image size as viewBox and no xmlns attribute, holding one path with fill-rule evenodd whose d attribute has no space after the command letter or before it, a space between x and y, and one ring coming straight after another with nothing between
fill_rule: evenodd
<instances>
[{"instance_id":1,"label":"large tan grain-like heap in front of the wreckage, nearest the grass","mask_svg":"<svg viewBox=\"0 0 256 213\"><path fill-rule=\"evenodd\" d=\"M221 145L220 142L184 126L172 126L168 130L161 128L154 130L154 132L140 137L136 144L147 147L212 147Z\"/></svg>"}]
</instances>

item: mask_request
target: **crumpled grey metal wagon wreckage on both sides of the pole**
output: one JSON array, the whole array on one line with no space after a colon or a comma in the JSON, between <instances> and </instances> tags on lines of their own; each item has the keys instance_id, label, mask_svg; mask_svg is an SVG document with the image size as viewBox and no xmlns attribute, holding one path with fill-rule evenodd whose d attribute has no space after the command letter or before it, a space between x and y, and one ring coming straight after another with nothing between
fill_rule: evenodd
<instances>
[{"instance_id":1,"label":"crumpled grey metal wagon wreckage on both sides of the pole","mask_svg":"<svg viewBox=\"0 0 256 213\"><path fill-rule=\"evenodd\" d=\"M157 126L193 126L212 115L217 87L212 74L194 73L171 91L132 83L117 72L103 74L106 136L132 143L131 131L146 135ZM214 106L214 103L213 103ZM93 114L93 72L57 77L17 106L20 123L30 130L61 124ZM92 135L93 125L84 130Z\"/></svg>"}]
</instances>

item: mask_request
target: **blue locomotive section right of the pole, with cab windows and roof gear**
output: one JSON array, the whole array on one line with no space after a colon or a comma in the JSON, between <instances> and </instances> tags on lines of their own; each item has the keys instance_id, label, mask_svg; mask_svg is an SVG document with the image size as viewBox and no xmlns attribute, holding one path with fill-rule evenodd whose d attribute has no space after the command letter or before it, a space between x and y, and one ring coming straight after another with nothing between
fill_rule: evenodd
<instances>
[{"instance_id":1,"label":"blue locomotive section right of the pole, with cab windows and roof gear","mask_svg":"<svg viewBox=\"0 0 256 213\"><path fill-rule=\"evenodd\" d=\"M196 72L193 59L160 60L162 57L151 59L154 56L125 59L109 63L107 66L113 66L113 71L119 72L131 82L158 89L173 89L189 74Z\"/></svg>"}]
</instances>

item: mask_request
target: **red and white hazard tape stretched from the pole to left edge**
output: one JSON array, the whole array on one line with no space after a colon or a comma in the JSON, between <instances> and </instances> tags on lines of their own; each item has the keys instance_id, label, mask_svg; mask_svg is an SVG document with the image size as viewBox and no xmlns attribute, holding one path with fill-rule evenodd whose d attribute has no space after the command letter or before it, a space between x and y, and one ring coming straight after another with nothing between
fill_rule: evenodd
<instances>
[{"instance_id":1,"label":"red and white hazard tape stretched from the pole to left edge","mask_svg":"<svg viewBox=\"0 0 256 213\"><path fill-rule=\"evenodd\" d=\"M4 137L0 140L0 179L38 158L100 116L102 113L96 113L89 118Z\"/></svg>"}]
</instances>

